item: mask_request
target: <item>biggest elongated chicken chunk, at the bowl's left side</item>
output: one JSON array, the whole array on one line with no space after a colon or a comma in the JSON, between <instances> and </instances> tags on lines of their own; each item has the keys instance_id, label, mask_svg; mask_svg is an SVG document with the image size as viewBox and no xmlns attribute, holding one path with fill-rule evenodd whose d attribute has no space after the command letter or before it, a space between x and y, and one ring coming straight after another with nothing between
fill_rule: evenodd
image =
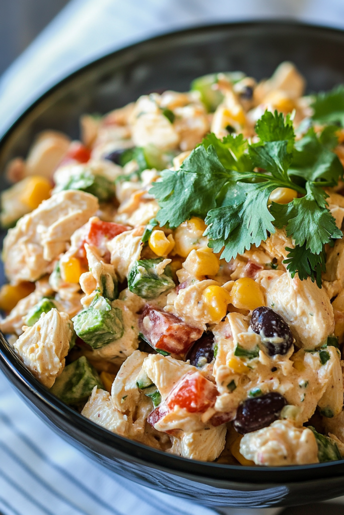
<instances>
[{"instance_id":1,"label":"biggest elongated chicken chunk, at the bowl's left side","mask_svg":"<svg viewBox=\"0 0 344 515\"><path fill-rule=\"evenodd\" d=\"M36 281L61 252L73 232L98 209L96 197L63 191L23 216L4 240L5 273L11 283Z\"/></svg>"}]
</instances>

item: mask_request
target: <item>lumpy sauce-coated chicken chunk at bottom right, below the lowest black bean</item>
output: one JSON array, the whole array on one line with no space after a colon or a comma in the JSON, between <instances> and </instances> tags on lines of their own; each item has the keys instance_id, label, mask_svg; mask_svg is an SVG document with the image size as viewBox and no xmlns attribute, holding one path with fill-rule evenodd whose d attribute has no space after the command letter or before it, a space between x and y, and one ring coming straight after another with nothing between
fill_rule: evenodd
<instances>
[{"instance_id":1,"label":"lumpy sauce-coated chicken chunk at bottom right, below the lowest black bean","mask_svg":"<svg viewBox=\"0 0 344 515\"><path fill-rule=\"evenodd\" d=\"M266 467L319 463L314 433L287 420L276 420L269 427L244 435L240 453Z\"/></svg>"}]
</instances>

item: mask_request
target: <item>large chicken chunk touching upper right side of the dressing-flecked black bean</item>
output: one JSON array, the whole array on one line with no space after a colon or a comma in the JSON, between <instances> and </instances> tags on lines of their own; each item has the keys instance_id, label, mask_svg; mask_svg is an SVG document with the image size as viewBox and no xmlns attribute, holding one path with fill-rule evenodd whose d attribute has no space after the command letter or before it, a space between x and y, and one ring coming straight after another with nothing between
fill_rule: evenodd
<instances>
[{"instance_id":1,"label":"large chicken chunk touching upper right side of the dressing-flecked black bean","mask_svg":"<svg viewBox=\"0 0 344 515\"><path fill-rule=\"evenodd\" d=\"M305 349L314 349L334 331L333 308L325 290L310 278L300 281L284 273L266 290L267 305L280 313L294 338Z\"/></svg>"}]
</instances>

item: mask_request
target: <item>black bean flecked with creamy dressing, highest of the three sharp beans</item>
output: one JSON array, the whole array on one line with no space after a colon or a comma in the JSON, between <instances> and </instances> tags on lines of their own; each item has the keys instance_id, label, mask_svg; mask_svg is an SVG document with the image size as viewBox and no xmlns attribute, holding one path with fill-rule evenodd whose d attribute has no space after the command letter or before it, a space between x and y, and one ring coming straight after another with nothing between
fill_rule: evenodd
<instances>
[{"instance_id":1,"label":"black bean flecked with creamy dressing, highest of the three sharp beans","mask_svg":"<svg viewBox=\"0 0 344 515\"><path fill-rule=\"evenodd\" d=\"M251 328L260 334L269 356L287 354L292 346L293 337L289 325L270 307L260 306L253 310Z\"/></svg>"}]
</instances>

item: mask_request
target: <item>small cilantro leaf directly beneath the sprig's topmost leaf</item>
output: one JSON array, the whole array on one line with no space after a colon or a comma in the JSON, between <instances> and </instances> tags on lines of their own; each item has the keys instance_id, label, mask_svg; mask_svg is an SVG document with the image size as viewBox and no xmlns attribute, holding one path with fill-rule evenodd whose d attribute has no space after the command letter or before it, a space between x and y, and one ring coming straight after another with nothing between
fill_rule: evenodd
<instances>
[{"instance_id":1,"label":"small cilantro leaf directly beneath the sprig's topmost leaf","mask_svg":"<svg viewBox=\"0 0 344 515\"><path fill-rule=\"evenodd\" d=\"M249 155L254 166L264 168L273 177L289 181L287 170L292 160L292 153L287 151L287 141L270 141L264 145L251 145Z\"/></svg>"}]
</instances>

